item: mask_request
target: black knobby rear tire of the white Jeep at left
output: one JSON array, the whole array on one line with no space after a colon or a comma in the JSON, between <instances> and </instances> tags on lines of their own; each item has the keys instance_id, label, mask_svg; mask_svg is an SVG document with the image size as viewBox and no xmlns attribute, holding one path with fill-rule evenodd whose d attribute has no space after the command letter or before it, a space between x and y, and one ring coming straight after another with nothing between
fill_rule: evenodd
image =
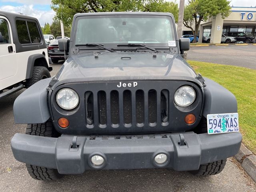
<instances>
[{"instance_id":1,"label":"black knobby rear tire of the white Jeep at left","mask_svg":"<svg viewBox=\"0 0 256 192\"><path fill-rule=\"evenodd\" d=\"M32 84L35 84L36 82L51 77L50 72L46 67L43 66L35 66L33 68L32 77L26 81L26 88L29 88L32 86Z\"/></svg>"}]
</instances>

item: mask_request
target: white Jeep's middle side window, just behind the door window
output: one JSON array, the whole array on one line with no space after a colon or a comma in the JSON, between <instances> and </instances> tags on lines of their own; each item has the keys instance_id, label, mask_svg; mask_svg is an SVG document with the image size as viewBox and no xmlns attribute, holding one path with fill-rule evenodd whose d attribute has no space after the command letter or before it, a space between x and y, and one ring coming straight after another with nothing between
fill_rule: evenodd
<instances>
[{"instance_id":1,"label":"white Jeep's middle side window, just behind the door window","mask_svg":"<svg viewBox=\"0 0 256 192\"><path fill-rule=\"evenodd\" d=\"M16 20L16 27L20 44L30 44L26 21Z\"/></svg>"}]
</instances>

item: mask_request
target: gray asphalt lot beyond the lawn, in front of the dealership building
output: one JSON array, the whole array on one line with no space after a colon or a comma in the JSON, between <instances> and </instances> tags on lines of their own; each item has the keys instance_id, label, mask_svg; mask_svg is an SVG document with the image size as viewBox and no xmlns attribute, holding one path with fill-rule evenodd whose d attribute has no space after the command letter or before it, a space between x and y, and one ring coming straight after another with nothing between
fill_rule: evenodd
<instances>
[{"instance_id":1,"label":"gray asphalt lot beyond the lawn, in front of the dealership building","mask_svg":"<svg viewBox=\"0 0 256 192\"><path fill-rule=\"evenodd\" d=\"M191 47L187 59L256 69L256 46L250 44Z\"/></svg>"}]
</instances>

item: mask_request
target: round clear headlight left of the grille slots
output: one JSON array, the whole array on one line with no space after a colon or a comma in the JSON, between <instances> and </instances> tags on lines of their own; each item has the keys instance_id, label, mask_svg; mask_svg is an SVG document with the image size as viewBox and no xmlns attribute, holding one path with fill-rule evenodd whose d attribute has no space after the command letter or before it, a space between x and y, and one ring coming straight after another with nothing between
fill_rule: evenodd
<instances>
[{"instance_id":1,"label":"round clear headlight left of the grille slots","mask_svg":"<svg viewBox=\"0 0 256 192\"><path fill-rule=\"evenodd\" d=\"M69 88L59 90L56 101L58 105L63 109L74 109L79 103L78 94Z\"/></svg>"}]
</instances>

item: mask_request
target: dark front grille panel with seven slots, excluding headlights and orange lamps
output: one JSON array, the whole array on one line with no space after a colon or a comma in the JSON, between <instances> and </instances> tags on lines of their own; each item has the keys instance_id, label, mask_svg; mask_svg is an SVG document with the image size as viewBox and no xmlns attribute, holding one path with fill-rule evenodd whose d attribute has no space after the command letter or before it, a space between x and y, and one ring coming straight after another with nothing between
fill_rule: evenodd
<instances>
[{"instance_id":1,"label":"dark front grille panel with seven slots, excluding headlights and orange lamps","mask_svg":"<svg viewBox=\"0 0 256 192\"><path fill-rule=\"evenodd\" d=\"M144 134L188 131L200 122L202 91L193 82L176 80L137 80L122 82L80 82L63 84L54 90L56 95L62 88L74 89L80 98L73 110L62 110L55 97L51 97L54 127L65 134ZM196 90L196 100L186 108L177 106L174 93L180 86L191 86ZM187 114L196 115L196 122L188 125ZM70 126L59 128L58 119L68 118Z\"/></svg>"}]
</instances>

